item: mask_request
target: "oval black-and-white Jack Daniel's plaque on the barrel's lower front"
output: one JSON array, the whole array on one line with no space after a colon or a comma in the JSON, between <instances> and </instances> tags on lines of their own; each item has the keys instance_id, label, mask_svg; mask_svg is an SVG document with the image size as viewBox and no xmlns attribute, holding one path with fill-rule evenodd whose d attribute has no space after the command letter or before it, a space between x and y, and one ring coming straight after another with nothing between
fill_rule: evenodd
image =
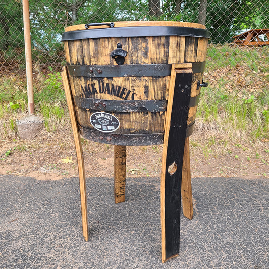
<instances>
[{"instance_id":1,"label":"oval black-and-white Jack Daniel's plaque on the barrel's lower front","mask_svg":"<svg viewBox=\"0 0 269 269\"><path fill-rule=\"evenodd\" d=\"M106 112L95 112L90 117L91 125L98 131L109 133L120 127L119 120L112 114Z\"/></svg>"}]
</instances>

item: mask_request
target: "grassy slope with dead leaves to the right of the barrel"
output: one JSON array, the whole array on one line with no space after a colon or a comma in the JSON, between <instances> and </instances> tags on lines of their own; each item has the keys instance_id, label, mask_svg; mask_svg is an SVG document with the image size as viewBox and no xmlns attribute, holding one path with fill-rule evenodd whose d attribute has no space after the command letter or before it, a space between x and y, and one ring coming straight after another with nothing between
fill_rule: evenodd
<instances>
[{"instance_id":1,"label":"grassy slope with dead leaves to the right of the barrel","mask_svg":"<svg viewBox=\"0 0 269 269\"><path fill-rule=\"evenodd\" d=\"M251 139L268 139L269 49L209 46L197 115L226 132L240 130Z\"/></svg>"}]
</instances>

